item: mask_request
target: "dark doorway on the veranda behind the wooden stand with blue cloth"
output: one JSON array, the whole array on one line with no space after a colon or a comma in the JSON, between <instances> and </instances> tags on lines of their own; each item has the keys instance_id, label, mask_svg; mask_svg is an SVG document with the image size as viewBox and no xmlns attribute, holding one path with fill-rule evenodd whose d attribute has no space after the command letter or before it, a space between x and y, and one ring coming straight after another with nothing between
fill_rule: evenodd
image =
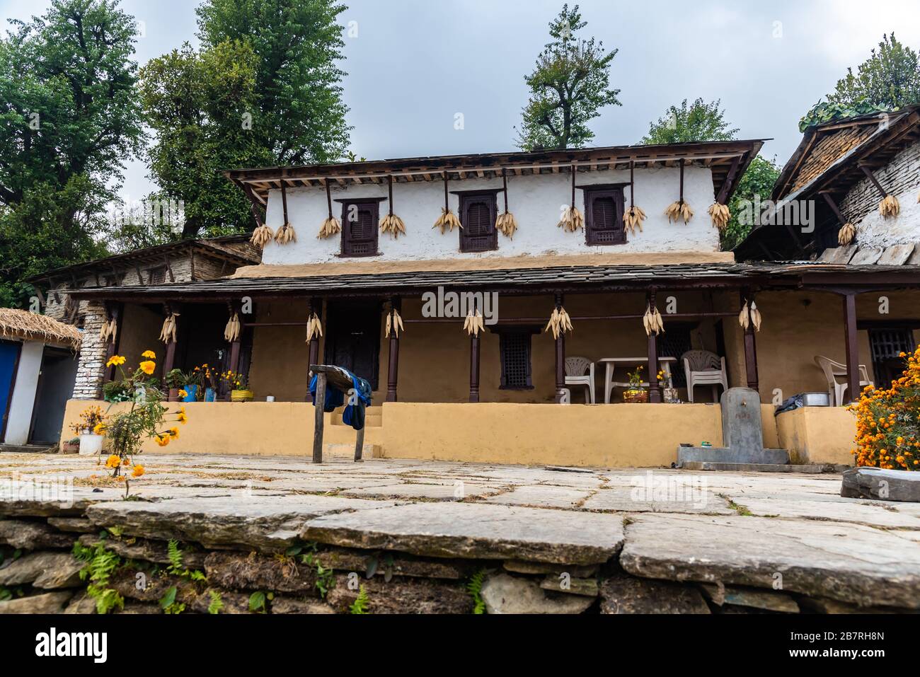
<instances>
[{"instance_id":1,"label":"dark doorway on the veranda behind the wooden stand with blue cloth","mask_svg":"<svg viewBox=\"0 0 920 677\"><path fill-rule=\"evenodd\" d=\"M380 366L379 301L329 302L323 361L345 367L377 389Z\"/></svg>"}]
</instances>

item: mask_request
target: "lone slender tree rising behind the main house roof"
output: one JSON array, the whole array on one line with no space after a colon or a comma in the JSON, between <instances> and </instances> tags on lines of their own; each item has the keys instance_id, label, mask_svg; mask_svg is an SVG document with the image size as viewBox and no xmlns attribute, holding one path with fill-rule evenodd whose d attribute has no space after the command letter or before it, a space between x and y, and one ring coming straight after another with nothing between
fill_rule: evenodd
<instances>
[{"instance_id":1,"label":"lone slender tree rising behind the main house roof","mask_svg":"<svg viewBox=\"0 0 920 677\"><path fill-rule=\"evenodd\" d=\"M536 59L534 72L524 77L530 97L523 109L517 145L536 148L581 148L594 138L588 122L604 106L622 105L619 89L610 88L610 63L617 50L604 51L604 43L583 40L576 30L587 26L579 6L563 5L549 23L553 39Z\"/></svg>"}]
</instances>

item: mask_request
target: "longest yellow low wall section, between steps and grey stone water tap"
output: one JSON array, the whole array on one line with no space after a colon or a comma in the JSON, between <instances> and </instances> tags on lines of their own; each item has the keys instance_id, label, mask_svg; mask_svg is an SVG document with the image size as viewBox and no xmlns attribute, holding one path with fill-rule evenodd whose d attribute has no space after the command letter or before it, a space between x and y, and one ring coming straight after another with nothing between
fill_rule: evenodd
<instances>
[{"instance_id":1,"label":"longest yellow low wall section, between steps and grey stone water tap","mask_svg":"<svg viewBox=\"0 0 920 677\"><path fill-rule=\"evenodd\" d=\"M722 442L713 405L384 404L384 455L508 464L671 465Z\"/></svg>"}]
</instances>

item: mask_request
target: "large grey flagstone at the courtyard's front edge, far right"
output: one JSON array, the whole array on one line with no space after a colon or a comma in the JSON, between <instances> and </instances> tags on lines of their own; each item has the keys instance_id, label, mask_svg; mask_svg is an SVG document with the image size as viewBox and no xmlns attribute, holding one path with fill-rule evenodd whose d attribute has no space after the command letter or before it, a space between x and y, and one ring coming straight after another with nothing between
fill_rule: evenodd
<instances>
[{"instance_id":1,"label":"large grey flagstone at the courtyard's front edge, far right","mask_svg":"<svg viewBox=\"0 0 920 677\"><path fill-rule=\"evenodd\" d=\"M913 534L914 532L909 532ZM920 608L920 543L861 524L638 514L620 564L653 579L800 592Z\"/></svg>"}]
</instances>

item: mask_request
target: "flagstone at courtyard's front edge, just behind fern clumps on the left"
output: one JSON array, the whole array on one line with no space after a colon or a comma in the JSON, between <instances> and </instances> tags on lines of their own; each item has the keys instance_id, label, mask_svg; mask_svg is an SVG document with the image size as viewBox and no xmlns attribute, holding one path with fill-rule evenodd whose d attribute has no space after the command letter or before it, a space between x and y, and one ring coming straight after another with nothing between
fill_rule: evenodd
<instances>
[{"instance_id":1,"label":"flagstone at courtyard's front edge, just behind fern clumps on the left","mask_svg":"<svg viewBox=\"0 0 920 677\"><path fill-rule=\"evenodd\" d=\"M167 499L99 503L86 510L86 517L99 527L118 526L123 534L144 538L276 552L293 545L304 523L318 515L393 505L392 501L325 496Z\"/></svg>"}]
</instances>

